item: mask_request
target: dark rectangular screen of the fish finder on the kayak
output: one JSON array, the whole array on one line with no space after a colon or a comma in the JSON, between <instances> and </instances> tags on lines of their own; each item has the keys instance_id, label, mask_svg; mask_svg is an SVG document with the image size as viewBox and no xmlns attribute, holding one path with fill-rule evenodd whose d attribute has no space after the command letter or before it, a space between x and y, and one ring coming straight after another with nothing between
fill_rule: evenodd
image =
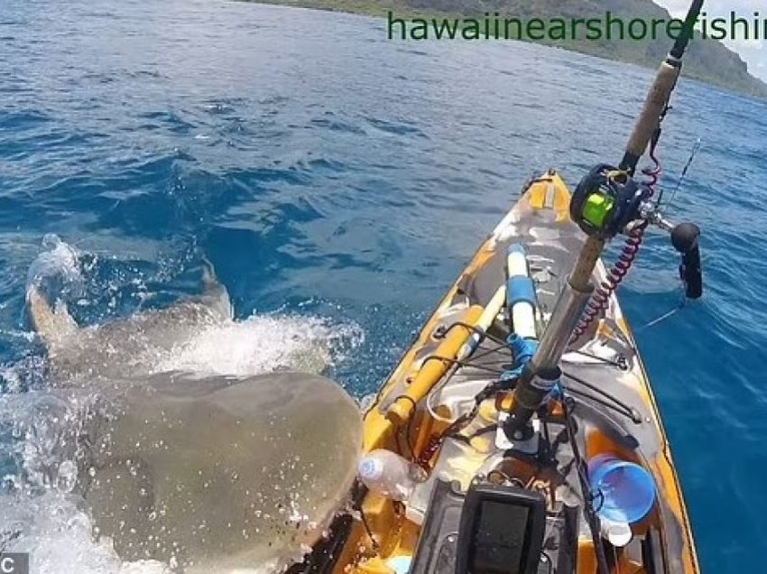
<instances>
[{"instance_id":1,"label":"dark rectangular screen of the fish finder on the kayak","mask_svg":"<svg viewBox=\"0 0 767 574\"><path fill-rule=\"evenodd\" d=\"M485 501L474 532L471 574L525 574L525 540L529 509Z\"/></svg>"}]
</instances>

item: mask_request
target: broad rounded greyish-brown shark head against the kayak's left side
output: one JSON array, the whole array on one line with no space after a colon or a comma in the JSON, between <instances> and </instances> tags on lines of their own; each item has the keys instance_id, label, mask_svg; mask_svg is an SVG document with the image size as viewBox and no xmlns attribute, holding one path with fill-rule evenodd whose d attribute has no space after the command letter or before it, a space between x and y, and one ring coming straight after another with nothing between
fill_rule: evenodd
<instances>
[{"instance_id":1,"label":"broad rounded greyish-brown shark head against the kayak's left side","mask_svg":"<svg viewBox=\"0 0 767 574\"><path fill-rule=\"evenodd\" d=\"M155 375L108 412L82 494L124 560L279 571L319 540L356 476L359 409L319 375Z\"/></svg>"}]
</instances>

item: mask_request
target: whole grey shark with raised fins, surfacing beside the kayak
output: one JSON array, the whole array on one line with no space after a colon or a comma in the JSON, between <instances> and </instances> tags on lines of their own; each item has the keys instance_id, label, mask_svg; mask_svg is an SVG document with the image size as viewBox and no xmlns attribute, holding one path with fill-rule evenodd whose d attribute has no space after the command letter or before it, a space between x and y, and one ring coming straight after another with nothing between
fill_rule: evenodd
<instances>
[{"instance_id":1,"label":"whole grey shark with raised fins, surfacing beside the kayak","mask_svg":"<svg viewBox=\"0 0 767 574\"><path fill-rule=\"evenodd\" d=\"M362 449L356 401L317 373L152 371L152 354L231 319L212 268L199 297L79 327L31 287L52 391L79 401L76 491L123 560L183 572L282 571L347 505ZM222 349L226 352L226 349Z\"/></svg>"}]
</instances>

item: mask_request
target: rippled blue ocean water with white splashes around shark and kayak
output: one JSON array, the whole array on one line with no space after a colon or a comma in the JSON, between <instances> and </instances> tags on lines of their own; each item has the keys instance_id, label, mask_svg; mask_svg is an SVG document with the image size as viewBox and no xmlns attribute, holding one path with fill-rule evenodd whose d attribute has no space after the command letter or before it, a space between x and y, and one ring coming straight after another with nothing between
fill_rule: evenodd
<instances>
[{"instance_id":1,"label":"rippled blue ocean water with white splashes around shark and kayak","mask_svg":"<svg viewBox=\"0 0 767 574\"><path fill-rule=\"evenodd\" d=\"M389 42L384 23L347 14L3 0L5 399L46 384L24 312L30 273L67 272L70 310L94 323L198 292L203 256L237 320L165 357L171 366L248 374L321 349L362 397L523 181L553 166L574 183L620 158L650 80L649 70L517 42ZM677 255L658 234L620 291L702 566L717 574L762 571L767 548L765 118L763 102L680 83L663 184L674 187L700 138L668 215L702 227L705 296L645 327L679 303ZM41 258L47 234L74 258ZM43 411L7 404L4 417L44 427ZM90 542L61 469L58 486L19 485L13 460L33 465L41 445L8 424L0 541L31 549L41 571L162 570Z\"/></svg>"}]
</instances>

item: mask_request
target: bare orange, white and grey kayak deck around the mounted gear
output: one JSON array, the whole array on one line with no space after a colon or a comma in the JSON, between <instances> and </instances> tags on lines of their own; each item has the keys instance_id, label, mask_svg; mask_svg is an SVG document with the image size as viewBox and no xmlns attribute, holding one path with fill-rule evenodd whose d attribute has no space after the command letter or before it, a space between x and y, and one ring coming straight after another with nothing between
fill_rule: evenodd
<instances>
[{"instance_id":1,"label":"bare orange, white and grey kayak deck around the mounted gear","mask_svg":"<svg viewBox=\"0 0 767 574\"><path fill-rule=\"evenodd\" d=\"M433 440L450 421L471 411L476 394L513 364L508 347L498 344L511 334L500 316L493 318L487 337L466 364L452 362L472 326L492 306L494 295L506 282L509 245L524 245L538 322L542 326L550 317L585 238L570 221L568 207L568 189L556 172L531 181L440 302L365 413L365 452L384 448L411 460L420 459L429 478L402 503L366 493L360 503L365 520L352 526L335 571L406 571L397 564L407 563L415 554L432 496L445 487L440 483L459 484L458 490L466 491L476 475L496 473L540 492L550 505L583 507L578 465L568 444L565 421L556 416L556 405L554 415L540 429L545 438L537 457L511 456L508 446L504 448L498 422L508 394L481 403L473 421L459 435L443 440L439 449L434 448ZM604 265L598 264L593 281L598 284L604 278ZM656 484L650 514L632 525L631 543L621 549L610 547L610 564L620 572L697 572L688 516L660 413L614 295L598 320L568 347L560 367L562 387L575 404L578 451L587 459L613 454L636 462L651 473ZM557 563L569 563L569 567L557 569L555 565L550 571L596 572L594 543L583 513L578 514L577 556Z\"/></svg>"}]
</instances>

